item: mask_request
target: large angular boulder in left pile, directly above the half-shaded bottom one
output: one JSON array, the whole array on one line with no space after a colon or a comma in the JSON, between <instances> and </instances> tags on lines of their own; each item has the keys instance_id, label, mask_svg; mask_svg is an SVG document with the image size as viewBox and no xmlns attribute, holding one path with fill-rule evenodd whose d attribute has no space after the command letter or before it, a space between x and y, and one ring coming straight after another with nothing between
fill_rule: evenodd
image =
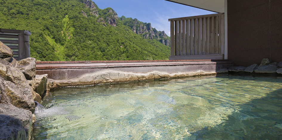
<instances>
[{"instance_id":1,"label":"large angular boulder in left pile, directly above the half-shaded bottom one","mask_svg":"<svg viewBox=\"0 0 282 140\"><path fill-rule=\"evenodd\" d=\"M8 65L0 64L0 103L33 111L35 92L24 74Z\"/></svg>"}]
</instances>

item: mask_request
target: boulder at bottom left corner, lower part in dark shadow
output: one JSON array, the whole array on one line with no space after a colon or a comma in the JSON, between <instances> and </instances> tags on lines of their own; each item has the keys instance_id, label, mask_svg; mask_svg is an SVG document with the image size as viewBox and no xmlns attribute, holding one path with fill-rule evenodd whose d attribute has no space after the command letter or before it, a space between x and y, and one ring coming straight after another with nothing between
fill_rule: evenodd
<instances>
[{"instance_id":1,"label":"boulder at bottom left corner, lower part in dark shadow","mask_svg":"<svg viewBox=\"0 0 282 140\"><path fill-rule=\"evenodd\" d=\"M31 111L0 104L0 139L30 139L32 120Z\"/></svg>"}]
</instances>

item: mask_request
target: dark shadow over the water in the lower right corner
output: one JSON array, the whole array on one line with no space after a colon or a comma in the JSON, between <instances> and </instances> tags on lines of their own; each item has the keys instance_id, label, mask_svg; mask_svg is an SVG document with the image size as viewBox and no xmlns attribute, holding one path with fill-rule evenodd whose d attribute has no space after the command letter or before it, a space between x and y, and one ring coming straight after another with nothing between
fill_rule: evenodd
<instances>
[{"instance_id":1,"label":"dark shadow over the water in the lower right corner","mask_svg":"<svg viewBox=\"0 0 282 140\"><path fill-rule=\"evenodd\" d=\"M204 127L191 135L196 139L282 139L281 101L282 88L269 92L265 97L239 104L241 109L224 117L222 123Z\"/></svg>"}]
</instances>

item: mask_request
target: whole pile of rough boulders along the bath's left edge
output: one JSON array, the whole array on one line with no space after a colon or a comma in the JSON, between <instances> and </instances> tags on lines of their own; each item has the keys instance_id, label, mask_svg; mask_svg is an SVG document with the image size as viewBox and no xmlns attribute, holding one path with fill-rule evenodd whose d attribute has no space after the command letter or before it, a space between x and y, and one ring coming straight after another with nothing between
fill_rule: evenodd
<instances>
[{"instance_id":1,"label":"whole pile of rough boulders along the bath's left edge","mask_svg":"<svg viewBox=\"0 0 282 140\"><path fill-rule=\"evenodd\" d=\"M47 75L36 76L35 70L35 58L17 62L0 41L0 139L30 139L34 100L41 102L38 93L44 95L47 84Z\"/></svg>"}]
</instances>

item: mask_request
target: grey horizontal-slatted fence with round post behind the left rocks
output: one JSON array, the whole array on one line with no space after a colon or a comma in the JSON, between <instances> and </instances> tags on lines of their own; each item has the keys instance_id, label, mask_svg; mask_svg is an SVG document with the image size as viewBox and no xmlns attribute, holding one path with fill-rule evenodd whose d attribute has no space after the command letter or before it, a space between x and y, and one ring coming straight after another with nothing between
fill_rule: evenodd
<instances>
[{"instance_id":1,"label":"grey horizontal-slatted fence with round post behind the left rocks","mask_svg":"<svg viewBox=\"0 0 282 140\"><path fill-rule=\"evenodd\" d=\"M30 57L29 35L26 30L0 29L0 41L13 50L16 60Z\"/></svg>"}]
</instances>

